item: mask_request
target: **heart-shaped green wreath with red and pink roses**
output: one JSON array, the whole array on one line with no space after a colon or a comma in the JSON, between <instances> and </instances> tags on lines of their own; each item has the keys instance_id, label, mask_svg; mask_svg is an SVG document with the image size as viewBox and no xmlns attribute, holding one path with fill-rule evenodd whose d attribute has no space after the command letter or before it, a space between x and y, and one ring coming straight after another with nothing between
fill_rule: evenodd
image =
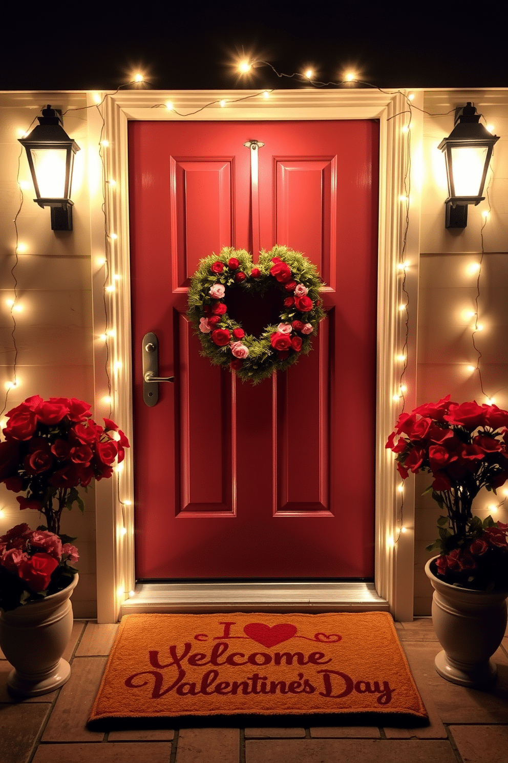
<instances>
[{"instance_id":1,"label":"heart-shaped green wreath with red and pink roses","mask_svg":"<svg viewBox=\"0 0 508 763\"><path fill-rule=\"evenodd\" d=\"M322 285L312 262L286 246L261 252L256 266L248 252L232 247L202 259L190 281L187 313L201 354L253 384L285 371L312 349L311 336L324 317ZM279 324L264 327L259 337L246 334L228 316L228 290L234 288L259 295L279 290Z\"/></svg>"}]
</instances>

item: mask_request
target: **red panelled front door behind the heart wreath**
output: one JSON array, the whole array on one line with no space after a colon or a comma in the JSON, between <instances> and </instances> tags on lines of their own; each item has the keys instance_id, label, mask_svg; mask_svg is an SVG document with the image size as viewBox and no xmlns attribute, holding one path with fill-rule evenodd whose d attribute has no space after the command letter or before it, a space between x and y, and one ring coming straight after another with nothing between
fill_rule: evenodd
<instances>
[{"instance_id":1,"label":"red panelled front door behind the heart wreath","mask_svg":"<svg viewBox=\"0 0 508 763\"><path fill-rule=\"evenodd\" d=\"M378 146L373 121L129 124L136 578L372 577ZM253 237L312 259L327 309L312 353L257 387L186 317L199 260ZM175 376L154 407L149 331Z\"/></svg>"}]
</instances>

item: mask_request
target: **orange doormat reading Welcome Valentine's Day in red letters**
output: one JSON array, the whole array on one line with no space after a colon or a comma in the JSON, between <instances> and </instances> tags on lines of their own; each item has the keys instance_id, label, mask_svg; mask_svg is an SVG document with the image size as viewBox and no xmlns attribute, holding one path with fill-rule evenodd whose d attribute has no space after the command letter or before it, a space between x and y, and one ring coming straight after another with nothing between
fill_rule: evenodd
<instances>
[{"instance_id":1,"label":"orange doormat reading Welcome Valentine's Day in red letters","mask_svg":"<svg viewBox=\"0 0 508 763\"><path fill-rule=\"evenodd\" d=\"M126 615L89 720L315 713L427 719L388 613Z\"/></svg>"}]
</instances>

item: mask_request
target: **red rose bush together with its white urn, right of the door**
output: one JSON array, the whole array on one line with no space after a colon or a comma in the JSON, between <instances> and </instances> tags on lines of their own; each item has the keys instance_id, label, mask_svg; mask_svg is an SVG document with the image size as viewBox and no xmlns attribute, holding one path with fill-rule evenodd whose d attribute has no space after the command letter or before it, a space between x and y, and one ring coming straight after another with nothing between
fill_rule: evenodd
<instances>
[{"instance_id":1,"label":"red rose bush together with its white urn, right of the door","mask_svg":"<svg viewBox=\"0 0 508 763\"><path fill-rule=\"evenodd\" d=\"M443 514L439 551L426 573L433 584L433 624L443 652L436 669L449 681L478 686L492 681L490 661L506 629L508 524L472 513L482 488L493 491L508 478L508 411L450 396L401 414L386 447L397 454L403 479L409 472L433 476L427 492ZM446 512L446 513L445 513Z\"/></svg>"}]
</instances>

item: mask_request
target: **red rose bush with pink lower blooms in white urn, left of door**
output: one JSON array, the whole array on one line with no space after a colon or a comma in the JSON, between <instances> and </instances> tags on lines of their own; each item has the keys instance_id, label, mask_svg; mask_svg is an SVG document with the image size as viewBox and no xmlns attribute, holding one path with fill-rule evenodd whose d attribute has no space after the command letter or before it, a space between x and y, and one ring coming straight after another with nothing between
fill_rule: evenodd
<instances>
[{"instance_id":1,"label":"red rose bush with pink lower blooms in white urn, left of door","mask_svg":"<svg viewBox=\"0 0 508 763\"><path fill-rule=\"evenodd\" d=\"M0 536L0 645L14 665L8 685L36 696L70 674L61 655L72 629L78 550L75 538L60 533L62 512L85 509L78 488L110 477L129 442L110 419L104 427L91 420L90 405L75 398L35 395L7 417L0 482L23 493L20 509L39 511L46 524L30 530L22 523Z\"/></svg>"}]
</instances>

